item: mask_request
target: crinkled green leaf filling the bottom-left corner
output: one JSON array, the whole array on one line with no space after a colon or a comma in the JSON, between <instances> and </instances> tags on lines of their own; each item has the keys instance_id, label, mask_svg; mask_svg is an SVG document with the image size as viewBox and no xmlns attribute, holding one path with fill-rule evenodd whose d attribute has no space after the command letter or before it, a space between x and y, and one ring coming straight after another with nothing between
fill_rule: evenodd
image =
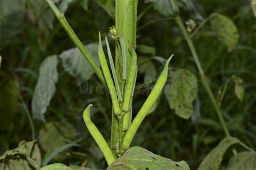
<instances>
[{"instance_id":1,"label":"crinkled green leaf filling the bottom-left corner","mask_svg":"<svg viewBox=\"0 0 256 170\"><path fill-rule=\"evenodd\" d=\"M40 169L41 154L36 141L22 141L17 148L0 157L0 169Z\"/></svg>"}]
</instances>

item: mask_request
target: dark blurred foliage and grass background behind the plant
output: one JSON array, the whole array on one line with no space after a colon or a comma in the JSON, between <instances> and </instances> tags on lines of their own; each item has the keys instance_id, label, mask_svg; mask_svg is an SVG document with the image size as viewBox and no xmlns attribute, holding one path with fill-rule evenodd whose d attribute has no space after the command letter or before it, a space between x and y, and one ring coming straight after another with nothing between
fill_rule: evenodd
<instances>
[{"instance_id":1,"label":"dark blurred foliage and grass background behind the plant","mask_svg":"<svg viewBox=\"0 0 256 170\"><path fill-rule=\"evenodd\" d=\"M97 59L97 31L106 36L108 27L114 25L113 1L55 2ZM174 53L170 72L174 73L176 68L188 70L187 74L192 76L188 80L197 84L198 93L197 89L193 91L196 99L192 98L193 111L188 119L181 118L169 107L170 97L161 95L132 145L142 146L172 160L185 160L191 169L197 169L225 134L200 82L190 49L173 20L171 8L165 3L164 0L139 1L137 83L145 83L145 77L150 76L152 82L149 85L152 86L163 69L163 62ZM225 15L237 26L239 41L232 50L219 41L209 22L193 36L193 41L216 98L229 82L221 102L228 129L232 136L255 150L256 20L252 6L246 0L195 0L188 7L181 9L188 32L193 32L212 13ZM110 96L97 94L95 90L91 94L82 93L81 85L87 82L89 87L96 86L100 81L48 5L42 0L1 0L0 36L0 155L17 147L22 140L38 139L43 164L50 161L104 168L105 160L84 125L82 112L92 103L92 121L110 140ZM113 52L114 40L111 40L111 46ZM50 80L47 79L49 75ZM178 81L181 84L172 86L179 88L189 83L183 77ZM183 91L176 90L176 93L183 94ZM244 96L241 91L244 91ZM38 96L41 96L41 101ZM134 94L133 115L146 97L146 93Z\"/></svg>"}]
</instances>

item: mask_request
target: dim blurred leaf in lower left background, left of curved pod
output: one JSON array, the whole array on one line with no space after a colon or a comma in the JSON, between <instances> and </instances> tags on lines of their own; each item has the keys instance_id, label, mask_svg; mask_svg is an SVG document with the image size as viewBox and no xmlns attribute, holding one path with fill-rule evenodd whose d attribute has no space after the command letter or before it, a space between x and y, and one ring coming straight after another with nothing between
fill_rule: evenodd
<instances>
[{"instance_id":1,"label":"dim blurred leaf in lower left background, left of curved pod","mask_svg":"<svg viewBox=\"0 0 256 170\"><path fill-rule=\"evenodd\" d=\"M78 137L78 132L68 122L50 122L44 124L39 131L39 143L43 150L46 151L45 157L68 143L72 143ZM62 160L63 156L58 155L56 159Z\"/></svg>"}]
</instances>

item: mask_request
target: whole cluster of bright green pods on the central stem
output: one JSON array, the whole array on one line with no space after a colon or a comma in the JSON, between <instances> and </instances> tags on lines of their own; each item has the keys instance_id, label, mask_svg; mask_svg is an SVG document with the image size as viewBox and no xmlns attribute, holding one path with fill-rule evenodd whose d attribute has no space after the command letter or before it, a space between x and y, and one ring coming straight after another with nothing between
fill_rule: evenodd
<instances>
[{"instance_id":1,"label":"whole cluster of bright green pods on the central stem","mask_svg":"<svg viewBox=\"0 0 256 170\"><path fill-rule=\"evenodd\" d=\"M115 30L112 30L112 32L116 33ZM119 41L119 45L122 49L122 64L123 64L122 86L125 87L125 88L122 88L122 86L119 86L116 69L113 64L113 58L112 58L112 54L109 47L109 42L107 41L107 38L105 38L105 40L106 40L107 54L109 56L112 76L110 73L109 66L107 64L106 56L103 51L102 40L99 32L99 47L98 47L99 61L102 67L102 72L104 75L107 88L109 88L109 91L110 91L113 112L118 117L119 121L121 121L120 123L122 124L123 139L120 140L122 141L122 143L119 144L119 147L121 147L121 149L125 151L127 150L127 148L130 147L134 134L137 132L140 124L143 122L143 119L146 117L147 112L149 112L154 102L156 102L158 96L161 93L161 90L163 90L165 83L167 81L169 62L171 61L173 55L171 55L170 58L167 60L164 70L163 72L161 72L149 97L147 97L142 108L139 110L138 114L133 119L132 123L130 123L130 120L132 118L132 110L131 110L132 98L133 98L134 88L135 88L136 79L137 79L137 71L138 71L137 54L135 50L131 48L132 55L131 55L130 70L129 70L129 73L127 74L125 45L122 37L118 37L117 40ZM123 90L123 94L122 94L122 90ZM91 133L93 139L95 139L96 143L98 144L100 150L102 150L104 157L107 161L107 164L110 165L116 158L111 152L111 149L109 145L107 145L107 142L103 138L102 134L99 132L95 124L91 122L91 119L90 119L91 108L92 108L92 104L90 104L84 110L84 113L83 113L84 122L87 129Z\"/></svg>"}]
</instances>

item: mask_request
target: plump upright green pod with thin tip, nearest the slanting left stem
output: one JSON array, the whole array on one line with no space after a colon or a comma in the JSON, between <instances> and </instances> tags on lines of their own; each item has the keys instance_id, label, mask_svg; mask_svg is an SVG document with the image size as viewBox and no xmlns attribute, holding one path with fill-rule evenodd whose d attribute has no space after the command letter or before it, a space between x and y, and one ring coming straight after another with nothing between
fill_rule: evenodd
<instances>
[{"instance_id":1,"label":"plump upright green pod with thin tip, nearest the slanting left stem","mask_svg":"<svg viewBox=\"0 0 256 170\"><path fill-rule=\"evenodd\" d=\"M109 88L109 91L110 91L114 114L120 115L121 112L120 112L120 106L119 106L118 99L117 99L117 92L116 92L116 88L114 87L114 83L113 83L113 80L112 80L112 77L110 74L109 66L107 66L106 56L104 54L103 47L102 47L102 40L100 37L100 32L99 32L98 55L99 55L100 65L102 66L103 75L105 77L107 87Z\"/></svg>"}]
</instances>

